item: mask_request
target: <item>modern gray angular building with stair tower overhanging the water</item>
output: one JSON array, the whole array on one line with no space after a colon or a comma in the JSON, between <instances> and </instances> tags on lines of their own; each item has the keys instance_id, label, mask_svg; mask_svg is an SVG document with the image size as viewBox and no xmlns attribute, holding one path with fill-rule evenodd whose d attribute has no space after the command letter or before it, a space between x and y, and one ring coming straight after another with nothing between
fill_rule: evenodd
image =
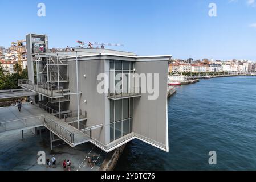
<instances>
[{"instance_id":1,"label":"modern gray angular building with stair tower overhanging the water","mask_svg":"<svg viewBox=\"0 0 256 182\"><path fill-rule=\"evenodd\" d=\"M139 139L166 152L170 55L137 56L111 49L48 48L46 35L26 36L29 80L19 86L52 116L43 125L74 147L105 152ZM39 130L40 127L35 130Z\"/></svg>"}]
</instances>

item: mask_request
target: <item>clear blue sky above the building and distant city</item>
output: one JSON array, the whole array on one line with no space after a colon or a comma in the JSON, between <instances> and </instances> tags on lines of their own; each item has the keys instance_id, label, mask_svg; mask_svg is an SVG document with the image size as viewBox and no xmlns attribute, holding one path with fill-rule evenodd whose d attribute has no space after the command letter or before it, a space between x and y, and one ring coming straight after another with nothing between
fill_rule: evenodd
<instances>
[{"instance_id":1,"label":"clear blue sky above the building and distant city","mask_svg":"<svg viewBox=\"0 0 256 182\"><path fill-rule=\"evenodd\" d=\"M46 17L37 5L46 5ZM208 15L216 3L217 17ZM50 47L76 40L123 43L137 55L256 60L255 0L0 1L0 45L47 34Z\"/></svg>"}]
</instances>

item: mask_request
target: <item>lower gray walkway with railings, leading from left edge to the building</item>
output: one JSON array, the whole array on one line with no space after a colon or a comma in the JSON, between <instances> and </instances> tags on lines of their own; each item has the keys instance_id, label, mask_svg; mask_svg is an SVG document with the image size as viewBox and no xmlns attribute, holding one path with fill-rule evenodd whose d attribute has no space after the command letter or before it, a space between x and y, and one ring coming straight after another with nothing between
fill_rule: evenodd
<instances>
[{"instance_id":1,"label":"lower gray walkway with railings, leading from left edge to the building","mask_svg":"<svg viewBox=\"0 0 256 182\"><path fill-rule=\"evenodd\" d=\"M18 111L17 107L0 108L0 133L27 130L39 126L45 126L71 147L91 140L90 128L79 131L35 105L23 104L21 112Z\"/></svg>"}]
</instances>

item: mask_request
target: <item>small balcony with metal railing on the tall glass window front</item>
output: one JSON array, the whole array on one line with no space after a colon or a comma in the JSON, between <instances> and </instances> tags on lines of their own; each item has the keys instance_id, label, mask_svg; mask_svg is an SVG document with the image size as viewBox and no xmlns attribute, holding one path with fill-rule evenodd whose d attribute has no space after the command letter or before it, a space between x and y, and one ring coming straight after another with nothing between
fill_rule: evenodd
<instances>
[{"instance_id":1,"label":"small balcony with metal railing on the tall glass window front","mask_svg":"<svg viewBox=\"0 0 256 182\"><path fill-rule=\"evenodd\" d=\"M125 93L125 92L113 93L110 91L110 89L108 89L108 98L118 99L118 98L135 97L135 96L141 96L141 87L132 88L128 93Z\"/></svg>"}]
</instances>

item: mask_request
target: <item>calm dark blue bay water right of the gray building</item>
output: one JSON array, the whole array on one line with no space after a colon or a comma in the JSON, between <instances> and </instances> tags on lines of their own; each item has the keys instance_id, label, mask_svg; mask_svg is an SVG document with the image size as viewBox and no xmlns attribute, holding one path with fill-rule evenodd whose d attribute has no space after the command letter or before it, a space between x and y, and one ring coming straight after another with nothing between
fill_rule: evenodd
<instances>
[{"instance_id":1,"label":"calm dark blue bay water right of the gray building","mask_svg":"<svg viewBox=\"0 0 256 182\"><path fill-rule=\"evenodd\" d=\"M181 86L168 100L168 121L169 154L133 140L116 170L256 170L256 77Z\"/></svg>"}]
</instances>

